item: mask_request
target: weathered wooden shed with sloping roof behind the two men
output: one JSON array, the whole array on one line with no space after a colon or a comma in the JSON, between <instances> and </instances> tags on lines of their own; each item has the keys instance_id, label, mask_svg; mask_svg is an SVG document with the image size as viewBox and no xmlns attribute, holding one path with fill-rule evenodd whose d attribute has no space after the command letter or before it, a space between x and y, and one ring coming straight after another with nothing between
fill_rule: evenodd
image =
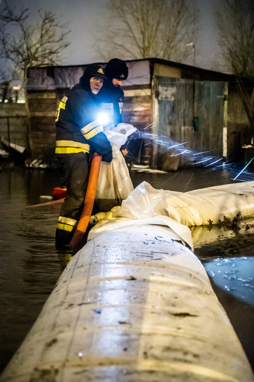
<instances>
[{"instance_id":1,"label":"weathered wooden shed with sloping roof behind the two men","mask_svg":"<svg viewBox=\"0 0 254 382\"><path fill-rule=\"evenodd\" d=\"M191 160L199 152L241 160L241 146L249 143L244 141L249 139L248 119L234 76L158 58L126 63L129 77L122 87L123 121L147 134L130 142L130 152L138 163L162 168L169 154L178 155L180 165L197 164ZM58 103L79 82L85 67L29 70L34 157L53 157Z\"/></svg>"}]
</instances>

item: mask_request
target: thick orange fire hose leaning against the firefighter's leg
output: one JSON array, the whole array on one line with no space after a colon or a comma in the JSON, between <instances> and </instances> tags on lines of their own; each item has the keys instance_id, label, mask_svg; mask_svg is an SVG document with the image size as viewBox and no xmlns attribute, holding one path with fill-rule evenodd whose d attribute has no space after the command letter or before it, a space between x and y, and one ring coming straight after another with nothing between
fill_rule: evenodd
<instances>
[{"instance_id":1,"label":"thick orange fire hose leaning against the firefighter's leg","mask_svg":"<svg viewBox=\"0 0 254 382\"><path fill-rule=\"evenodd\" d=\"M96 152L93 154L93 159L91 162L91 168L88 178L88 184L87 184L87 192L85 194L85 201L83 210L79 219L79 223L77 225L76 231L74 235L72 236L70 247L74 254L79 251L81 248L81 243L85 235L85 231L87 229L92 209L93 209L93 203L95 200L95 192L96 192L96 186L98 182L98 176L100 171L100 163L101 163L101 157Z\"/></svg>"}]
</instances>

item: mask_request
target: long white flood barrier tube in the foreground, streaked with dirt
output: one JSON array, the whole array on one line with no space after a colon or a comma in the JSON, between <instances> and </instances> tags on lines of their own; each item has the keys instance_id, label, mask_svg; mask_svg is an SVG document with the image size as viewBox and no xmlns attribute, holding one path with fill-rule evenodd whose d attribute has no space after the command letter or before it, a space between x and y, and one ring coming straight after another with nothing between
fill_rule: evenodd
<instances>
[{"instance_id":1,"label":"long white flood barrier tube in the foreground, streaked with dirt","mask_svg":"<svg viewBox=\"0 0 254 382\"><path fill-rule=\"evenodd\" d=\"M197 257L170 228L104 231L72 257L1 382L251 382Z\"/></svg>"}]
</instances>

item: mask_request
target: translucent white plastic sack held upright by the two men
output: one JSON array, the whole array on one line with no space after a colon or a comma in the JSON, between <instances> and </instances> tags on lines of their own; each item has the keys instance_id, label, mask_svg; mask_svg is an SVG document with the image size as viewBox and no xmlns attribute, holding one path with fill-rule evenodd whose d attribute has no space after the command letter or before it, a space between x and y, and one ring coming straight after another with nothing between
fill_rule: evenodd
<instances>
[{"instance_id":1,"label":"translucent white plastic sack held upright by the two men","mask_svg":"<svg viewBox=\"0 0 254 382\"><path fill-rule=\"evenodd\" d=\"M121 205L134 189L120 147L136 130L132 125L119 123L116 128L104 131L112 146L113 160L110 163L101 162L100 166L95 202L101 212Z\"/></svg>"}]
</instances>

